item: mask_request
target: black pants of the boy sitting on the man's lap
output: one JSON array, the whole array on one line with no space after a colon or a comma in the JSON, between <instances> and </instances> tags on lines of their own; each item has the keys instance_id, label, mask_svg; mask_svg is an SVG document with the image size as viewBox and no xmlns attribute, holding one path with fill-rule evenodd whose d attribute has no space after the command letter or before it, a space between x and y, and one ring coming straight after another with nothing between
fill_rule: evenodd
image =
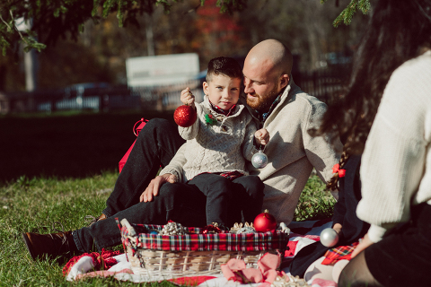
<instances>
[{"instance_id":1,"label":"black pants of the boy sitting on the man's lap","mask_svg":"<svg viewBox=\"0 0 431 287\"><path fill-rule=\"evenodd\" d=\"M207 224L214 222L232 227L235 222L253 222L261 212L263 203L263 182L258 176L242 176L233 180L218 174L202 173L187 183L164 184L166 193L196 193L206 196Z\"/></svg>"}]
</instances>

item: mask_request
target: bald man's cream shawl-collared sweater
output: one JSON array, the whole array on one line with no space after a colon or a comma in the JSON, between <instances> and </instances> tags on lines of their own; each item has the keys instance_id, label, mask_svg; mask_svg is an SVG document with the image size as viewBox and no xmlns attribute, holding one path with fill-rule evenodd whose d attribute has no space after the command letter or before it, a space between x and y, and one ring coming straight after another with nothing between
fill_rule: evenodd
<instances>
[{"instance_id":1,"label":"bald man's cream shawl-collared sweater","mask_svg":"<svg viewBox=\"0 0 431 287\"><path fill-rule=\"evenodd\" d=\"M259 175L265 184L263 208L268 209L277 222L288 224L292 221L312 168L326 182L332 177L332 167L339 162L342 150L339 139L333 146L326 137L308 134L308 129L320 125L326 109L323 102L301 91L291 80L277 107L265 121L263 127L270 135L265 148L268 165L257 170L248 162L247 170L252 175ZM180 164L185 161L184 147L185 144L174 157Z\"/></svg>"}]
</instances>

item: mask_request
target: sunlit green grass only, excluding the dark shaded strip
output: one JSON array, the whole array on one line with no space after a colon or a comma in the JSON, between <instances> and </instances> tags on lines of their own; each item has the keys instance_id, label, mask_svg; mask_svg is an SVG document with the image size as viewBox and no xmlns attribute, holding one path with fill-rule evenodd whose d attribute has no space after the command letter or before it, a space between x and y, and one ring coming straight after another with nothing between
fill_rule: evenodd
<instances>
[{"instance_id":1,"label":"sunlit green grass only, excluding the dark shaded strip","mask_svg":"<svg viewBox=\"0 0 431 287\"><path fill-rule=\"evenodd\" d=\"M52 260L33 262L21 239L22 232L55 232L61 226L74 230L85 225L84 216L98 215L105 207L117 173L104 172L88 178L19 178L0 187L0 286L136 286L113 279L87 279L68 283L62 276L64 264ZM295 220L329 216L333 204L316 176L309 179L301 196ZM316 200L315 195L321 199ZM121 249L116 247L114 249ZM145 286L145 284L141 284ZM148 283L146 286L171 286L171 283Z\"/></svg>"}]
</instances>

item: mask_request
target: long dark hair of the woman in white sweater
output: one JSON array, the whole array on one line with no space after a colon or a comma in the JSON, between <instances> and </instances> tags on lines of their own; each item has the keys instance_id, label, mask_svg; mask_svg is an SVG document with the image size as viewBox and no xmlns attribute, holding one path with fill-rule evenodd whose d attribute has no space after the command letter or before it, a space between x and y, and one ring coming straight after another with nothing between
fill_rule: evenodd
<instances>
[{"instance_id":1,"label":"long dark hair of the woman in white sweater","mask_svg":"<svg viewBox=\"0 0 431 287\"><path fill-rule=\"evenodd\" d=\"M313 135L339 131L347 154L364 151L392 72L431 48L431 0L380 0L372 13L346 94L330 105L320 129L311 131Z\"/></svg>"}]
</instances>

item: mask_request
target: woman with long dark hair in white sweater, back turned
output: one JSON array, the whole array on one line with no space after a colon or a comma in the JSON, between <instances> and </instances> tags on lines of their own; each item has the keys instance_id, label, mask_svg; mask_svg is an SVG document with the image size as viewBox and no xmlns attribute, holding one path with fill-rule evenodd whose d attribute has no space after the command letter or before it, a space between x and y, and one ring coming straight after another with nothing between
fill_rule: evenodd
<instances>
[{"instance_id":1,"label":"woman with long dark hair in white sweater, back turned","mask_svg":"<svg viewBox=\"0 0 431 287\"><path fill-rule=\"evenodd\" d=\"M379 0L372 13L347 94L329 109L320 130L336 123L345 151L363 152L356 214L371 227L339 286L427 286L431 0Z\"/></svg>"}]
</instances>

